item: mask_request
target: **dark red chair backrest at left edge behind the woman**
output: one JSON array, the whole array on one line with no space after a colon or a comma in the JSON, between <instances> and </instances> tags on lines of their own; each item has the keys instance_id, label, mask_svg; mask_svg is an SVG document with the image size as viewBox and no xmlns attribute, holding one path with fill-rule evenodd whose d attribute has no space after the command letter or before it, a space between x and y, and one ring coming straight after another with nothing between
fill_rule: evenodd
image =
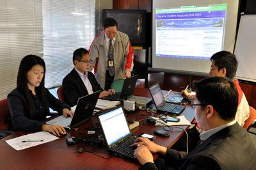
<instances>
[{"instance_id":1,"label":"dark red chair backrest at left edge behind the woman","mask_svg":"<svg viewBox=\"0 0 256 170\"><path fill-rule=\"evenodd\" d=\"M0 130L8 130L8 116L10 109L7 98L0 100Z\"/></svg>"}]
</instances>

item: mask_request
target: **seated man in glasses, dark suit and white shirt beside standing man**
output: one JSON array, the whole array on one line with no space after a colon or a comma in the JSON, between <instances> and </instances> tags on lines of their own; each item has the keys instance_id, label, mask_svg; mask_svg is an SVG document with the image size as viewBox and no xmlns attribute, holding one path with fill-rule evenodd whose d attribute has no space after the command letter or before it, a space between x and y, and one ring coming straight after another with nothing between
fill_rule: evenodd
<instances>
[{"instance_id":1,"label":"seated man in glasses, dark suit and white shirt beside standing man","mask_svg":"<svg viewBox=\"0 0 256 170\"><path fill-rule=\"evenodd\" d=\"M65 95L65 101L70 107L77 104L77 100L85 95L90 95L95 91L101 91L100 98L108 97L115 93L114 89L103 90L96 81L90 68L90 54L84 48L76 49L73 54L73 63L75 67L63 79L62 87Z\"/></svg>"}]
</instances>

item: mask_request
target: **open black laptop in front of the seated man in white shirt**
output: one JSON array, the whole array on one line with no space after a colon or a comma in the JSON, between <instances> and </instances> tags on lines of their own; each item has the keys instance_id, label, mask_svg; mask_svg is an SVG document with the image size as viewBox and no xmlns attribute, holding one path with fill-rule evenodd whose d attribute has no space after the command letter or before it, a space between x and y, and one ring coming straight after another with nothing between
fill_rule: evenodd
<instances>
[{"instance_id":1,"label":"open black laptop in front of the seated man in white shirt","mask_svg":"<svg viewBox=\"0 0 256 170\"><path fill-rule=\"evenodd\" d=\"M124 85L122 88L122 91L120 93L115 93L114 95L111 95L109 97L104 97L102 99L104 100L112 100L112 101L123 101L133 95L136 81L137 81L138 75L134 75L132 77L124 79Z\"/></svg>"}]
</instances>

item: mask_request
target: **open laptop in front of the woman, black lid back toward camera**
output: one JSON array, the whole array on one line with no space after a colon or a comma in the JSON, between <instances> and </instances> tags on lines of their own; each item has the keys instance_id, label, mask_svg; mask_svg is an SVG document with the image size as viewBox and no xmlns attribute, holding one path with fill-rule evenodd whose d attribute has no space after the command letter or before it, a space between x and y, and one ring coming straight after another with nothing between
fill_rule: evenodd
<instances>
[{"instance_id":1,"label":"open laptop in front of the woman, black lid back toward camera","mask_svg":"<svg viewBox=\"0 0 256 170\"><path fill-rule=\"evenodd\" d=\"M70 116L65 118L62 115L45 123L49 125L59 124L68 129L77 127L77 125L92 117L99 95L100 91L96 91L95 93L79 98L73 118L71 118Z\"/></svg>"}]
</instances>

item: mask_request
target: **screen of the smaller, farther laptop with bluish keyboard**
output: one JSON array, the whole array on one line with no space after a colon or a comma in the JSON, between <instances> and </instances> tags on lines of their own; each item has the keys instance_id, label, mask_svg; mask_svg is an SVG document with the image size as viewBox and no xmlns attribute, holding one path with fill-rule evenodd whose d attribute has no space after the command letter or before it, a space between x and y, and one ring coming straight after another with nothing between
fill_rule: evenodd
<instances>
[{"instance_id":1,"label":"screen of the smaller, farther laptop with bluish keyboard","mask_svg":"<svg viewBox=\"0 0 256 170\"><path fill-rule=\"evenodd\" d=\"M159 105L162 105L164 101L163 93L161 91L161 88L159 86L159 83L153 84L149 87L150 94L152 95L152 98L156 104L156 107Z\"/></svg>"}]
</instances>

